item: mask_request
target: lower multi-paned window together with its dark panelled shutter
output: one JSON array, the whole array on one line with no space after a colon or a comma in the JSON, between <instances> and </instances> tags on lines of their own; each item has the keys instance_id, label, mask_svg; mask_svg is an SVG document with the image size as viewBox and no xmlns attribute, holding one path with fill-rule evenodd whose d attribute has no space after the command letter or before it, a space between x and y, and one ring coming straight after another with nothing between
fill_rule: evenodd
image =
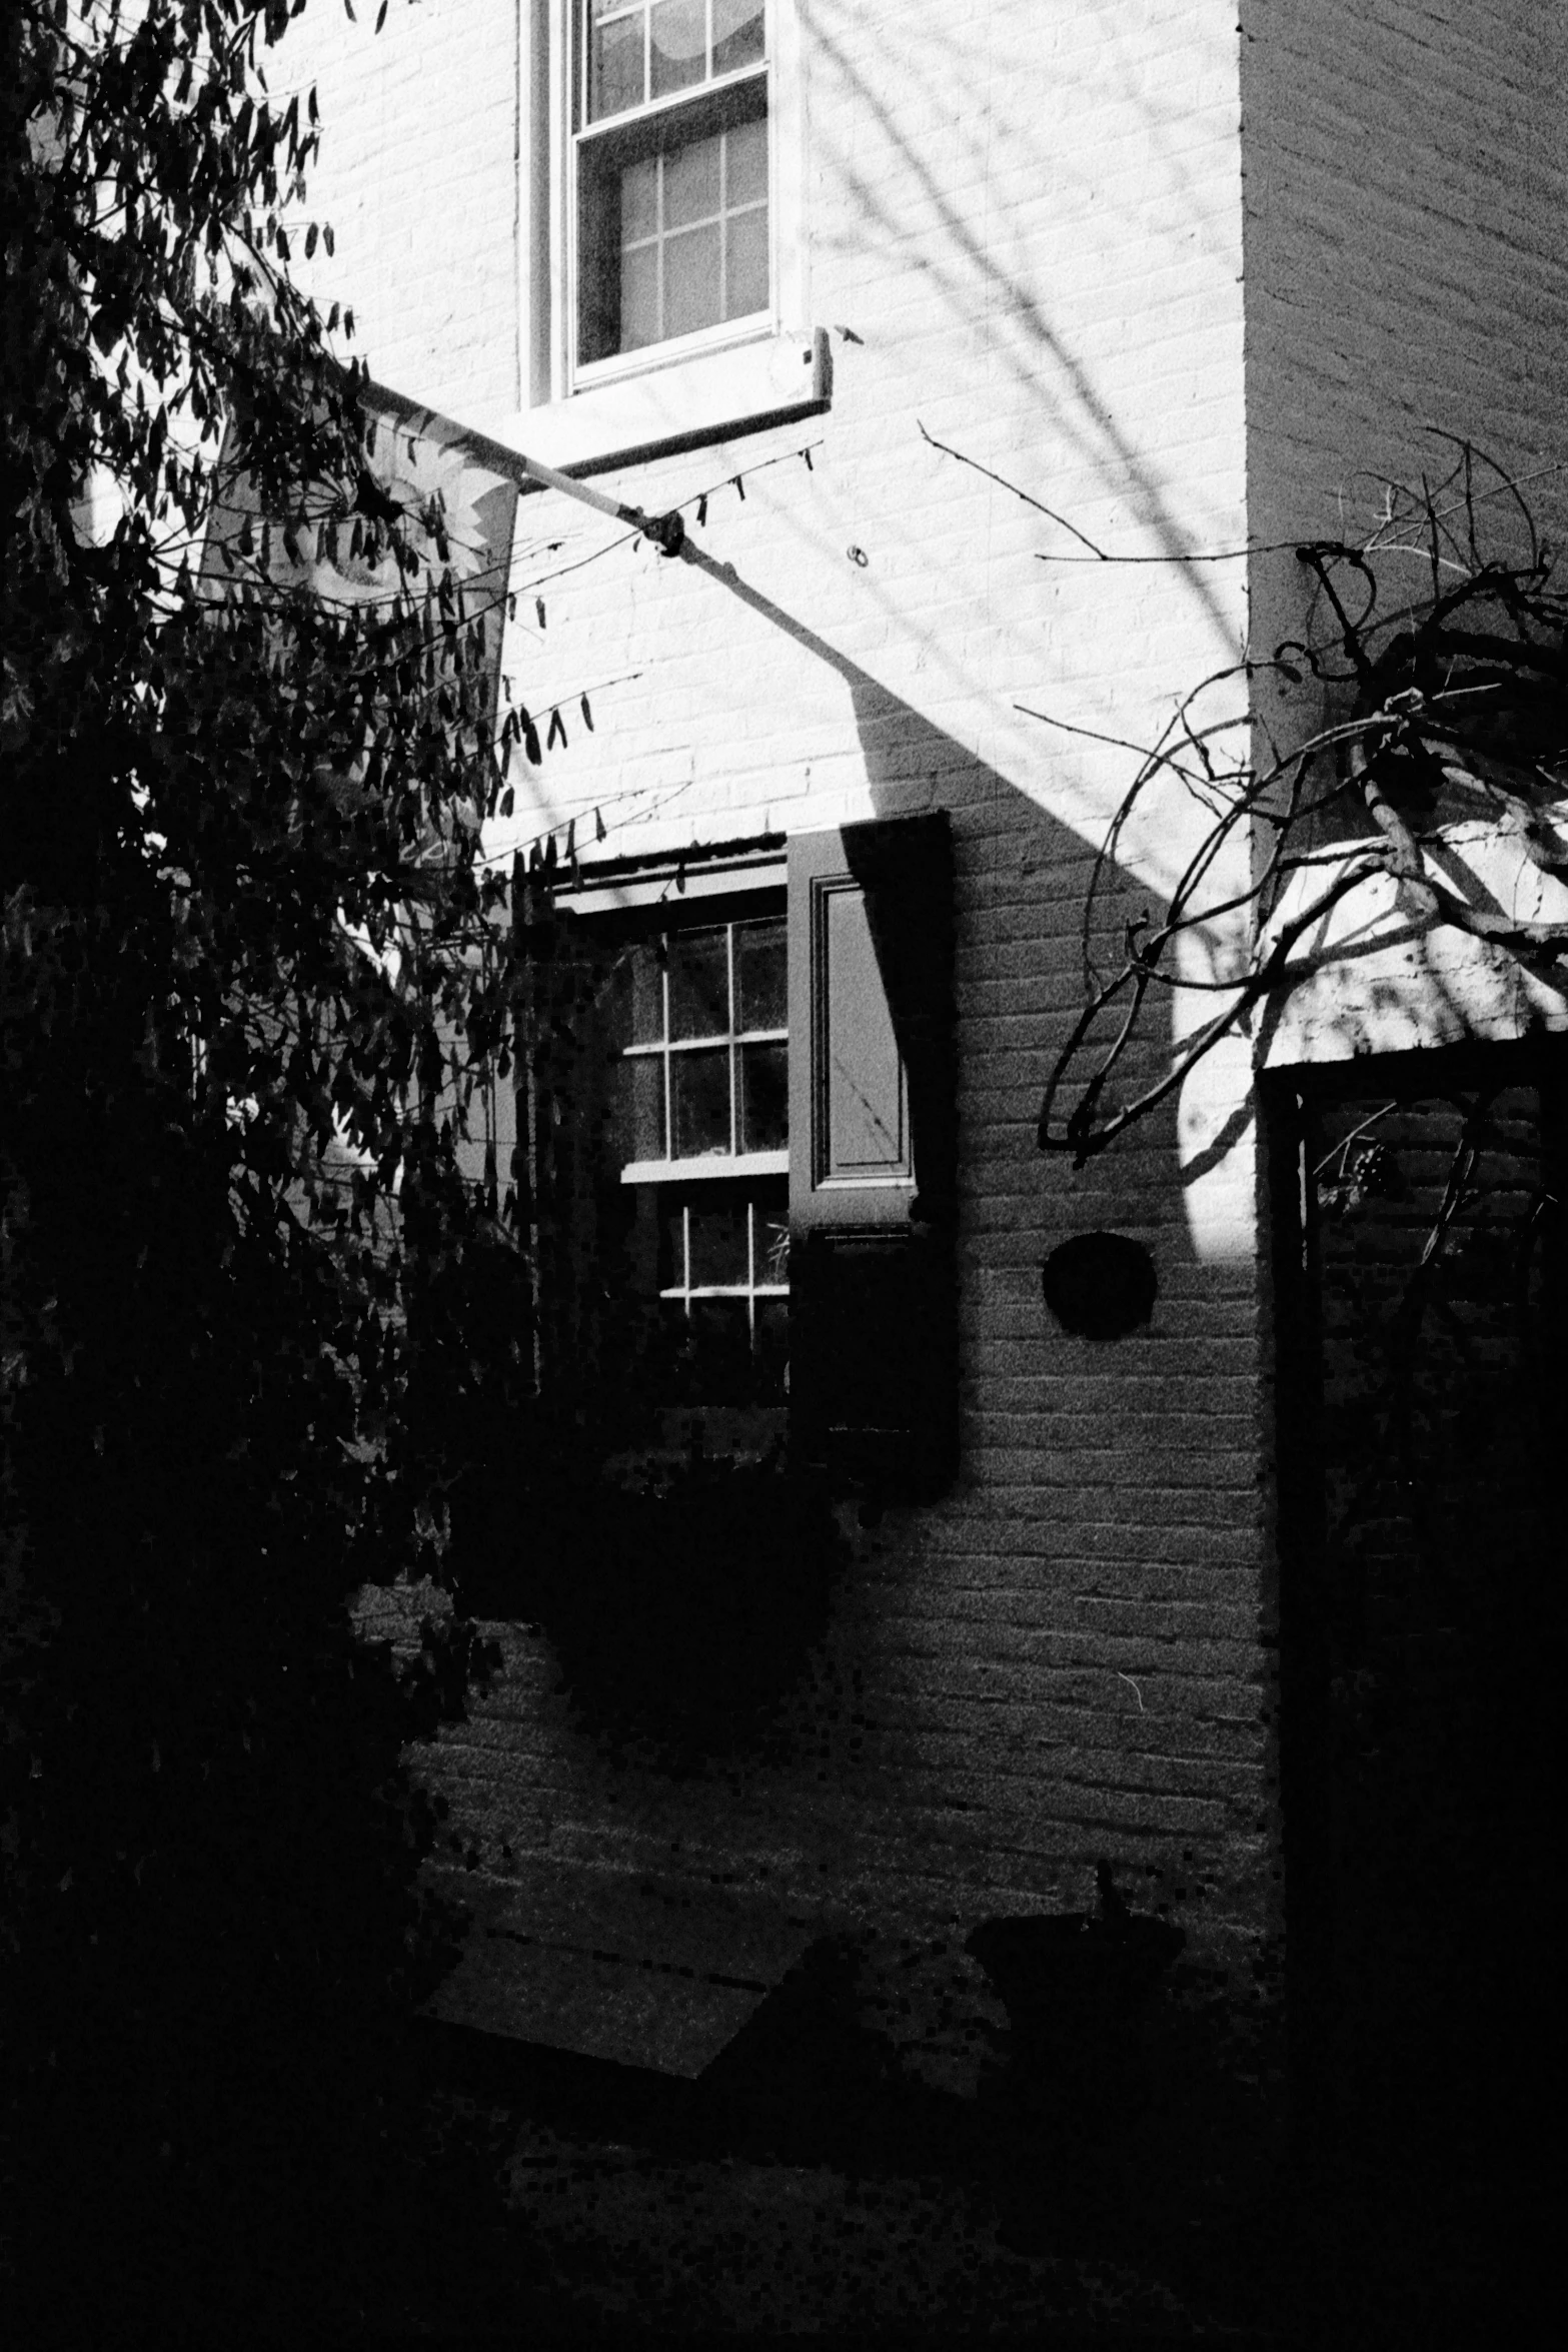
<instances>
[{"instance_id":1,"label":"lower multi-paned window together with its dark panelled shutter","mask_svg":"<svg viewBox=\"0 0 1568 2352\"><path fill-rule=\"evenodd\" d=\"M802 1468L933 1494L957 1444L947 828L771 847L607 866L524 913L541 1385L632 1477L788 1435Z\"/></svg>"}]
</instances>

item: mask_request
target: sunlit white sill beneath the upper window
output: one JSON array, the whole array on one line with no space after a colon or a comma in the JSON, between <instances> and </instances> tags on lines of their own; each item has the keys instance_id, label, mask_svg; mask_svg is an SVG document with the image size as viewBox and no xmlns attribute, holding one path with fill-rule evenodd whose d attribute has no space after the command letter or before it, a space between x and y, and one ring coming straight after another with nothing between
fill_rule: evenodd
<instances>
[{"instance_id":1,"label":"sunlit white sill beneath the upper window","mask_svg":"<svg viewBox=\"0 0 1568 2352\"><path fill-rule=\"evenodd\" d=\"M703 350L635 376L595 383L571 400L473 423L567 473L599 473L642 459L701 449L792 416L820 416L832 400L827 334L769 334L729 350Z\"/></svg>"}]
</instances>

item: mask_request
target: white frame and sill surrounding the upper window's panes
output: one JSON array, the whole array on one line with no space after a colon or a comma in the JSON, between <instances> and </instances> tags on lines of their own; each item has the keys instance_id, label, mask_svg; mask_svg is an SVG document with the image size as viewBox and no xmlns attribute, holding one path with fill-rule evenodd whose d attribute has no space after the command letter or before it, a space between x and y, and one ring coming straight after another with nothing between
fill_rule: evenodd
<instances>
[{"instance_id":1,"label":"white frame and sill surrounding the upper window's panes","mask_svg":"<svg viewBox=\"0 0 1568 2352\"><path fill-rule=\"evenodd\" d=\"M517 320L522 414L498 437L590 470L827 405L827 339L811 327L806 89L797 0L766 0L771 303L748 320L607 360L576 360L576 125L581 0L520 0ZM712 85L708 85L712 87ZM510 430L508 430L510 426Z\"/></svg>"}]
</instances>

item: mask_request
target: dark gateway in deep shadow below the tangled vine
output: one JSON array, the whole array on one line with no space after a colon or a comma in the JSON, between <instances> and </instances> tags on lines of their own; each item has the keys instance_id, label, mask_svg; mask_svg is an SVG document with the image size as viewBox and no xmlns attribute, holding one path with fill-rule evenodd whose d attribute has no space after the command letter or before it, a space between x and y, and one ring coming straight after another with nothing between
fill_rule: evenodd
<instances>
[{"instance_id":1,"label":"dark gateway in deep shadow below the tangled vine","mask_svg":"<svg viewBox=\"0 0 1568 2352\"><path fill-rule=\"evenodd\" d=\"M1561 1040L1267 1105L1298 2112L1469 2176L1554 2042L1566 1105Z\"/></svg>"}]
</instances>

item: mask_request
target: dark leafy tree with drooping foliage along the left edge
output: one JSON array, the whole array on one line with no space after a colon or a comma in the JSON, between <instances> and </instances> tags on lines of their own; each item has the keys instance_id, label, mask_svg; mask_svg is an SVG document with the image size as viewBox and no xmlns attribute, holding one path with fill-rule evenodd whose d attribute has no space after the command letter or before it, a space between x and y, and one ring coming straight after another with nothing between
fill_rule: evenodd
<instances>
[{"instance_id":1,"label":"dark leafy tree with drooping foliage along the left edge","mask_svg":"<svg viewBox=\"0 0 1568 2352\"><path fill-rule=\"evenodd\" d=\"M0 1997L54 2333L390 2310L442 2183L444 2260L489 2211L416 2161L407 2039L444 1924L400 1757L473 1630L400 1682L348 1602L449 1576L524 1409L458 1164L505 1065L498 609L289 282L331 247L315 96L266 89L301 5L5 14ZM336 534L378 593L310 583Z\"/></svg>"}]
</instances>

